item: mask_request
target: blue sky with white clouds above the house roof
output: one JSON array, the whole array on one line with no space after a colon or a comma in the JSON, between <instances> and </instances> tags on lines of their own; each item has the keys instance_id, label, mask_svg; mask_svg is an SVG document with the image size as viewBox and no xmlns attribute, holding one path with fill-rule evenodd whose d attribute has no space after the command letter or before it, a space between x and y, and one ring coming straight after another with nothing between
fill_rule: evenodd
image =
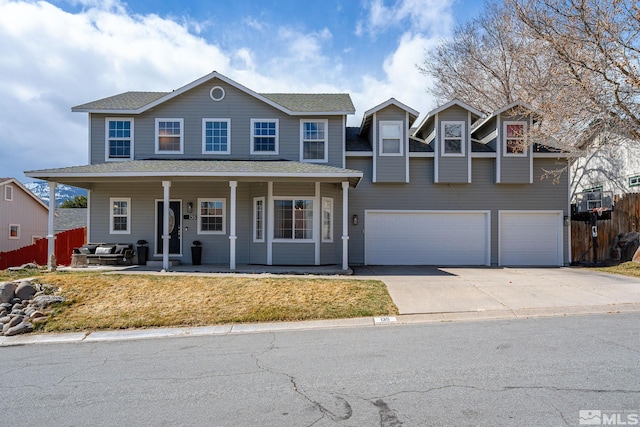
<instances>
[{"instance_id":1,"label":"blue sky with white clouds above the house roof","mask_svg":"<svg viewBox=\"0 0 640 427\"><path fill-rule=\"evenodd\" d=\"M87 163L74 105L219 71L256 92L435 102L416 65L479 0L0 0L0 176Z\"/></svg>"}]
</instances>

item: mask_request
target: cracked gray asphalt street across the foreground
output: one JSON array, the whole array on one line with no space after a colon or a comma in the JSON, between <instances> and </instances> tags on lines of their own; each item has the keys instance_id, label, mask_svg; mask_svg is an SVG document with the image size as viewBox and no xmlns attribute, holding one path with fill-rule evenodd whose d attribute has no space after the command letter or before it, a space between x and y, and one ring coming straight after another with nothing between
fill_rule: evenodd
<instances>
[{"instance_id":1,"label":"cracked gray asphalt street across the foreground","mask_svg":"<svg viewBox=\"0 0 640 427\"><path fill-rule=\"evenodd\" d=\"M558 426L595 411L624 421L640 412L639 321L622 313L10 346L0 348L0 413L14 426Z\"/></svg>"}]
</instances>

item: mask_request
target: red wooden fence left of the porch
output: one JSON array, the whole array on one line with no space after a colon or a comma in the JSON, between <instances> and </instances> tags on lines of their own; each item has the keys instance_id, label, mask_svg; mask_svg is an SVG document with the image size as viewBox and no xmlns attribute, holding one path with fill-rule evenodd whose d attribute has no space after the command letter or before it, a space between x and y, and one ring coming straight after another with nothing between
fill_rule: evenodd
<instances>
[{"instance_id":1,"label":"red wooden fence left of the porch","mask_svg":"<svg viewBox=\"0 0 640 427\"><path fill-rule=\"evenodd\" d=\"M55 254L58 265L71 264L73 248L84 245L87 241L87 228L76 228L56 234ZM25 246L9 252L0 252L0 270L28 262L47 265L47 239L38 239L33 245Z\"/></svg>"}]
</instances>

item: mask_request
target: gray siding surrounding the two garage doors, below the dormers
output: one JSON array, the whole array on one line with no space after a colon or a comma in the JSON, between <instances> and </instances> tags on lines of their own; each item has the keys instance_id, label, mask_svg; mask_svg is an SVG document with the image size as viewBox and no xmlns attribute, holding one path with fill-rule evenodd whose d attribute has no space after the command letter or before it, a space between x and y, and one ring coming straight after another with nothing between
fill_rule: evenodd
<instances>
[{"instance_id":1,"label":"gray siding surrounding the two garage doors, below the dormers","mask_svg":"<svg viewBox=\"0 0 640 427\"><path fill-rule=\"evenodd\" d=\"M350 192L349 215L358 215L357 226L349 225L349 262L364 262L364 211L389 210L490 210L491 264L498 263L498 210L562 210L569 215L567 174L554 184L541 179L543 168L558 168L555 159L535 159L533 184L493 184L494 159L473 159L472 184L433 185L433 159L410 159L409 184L372 184L371 161L348 158L347 167L364 172L358 188ZM568 230L564 228L565 260L568 262Z\"/></svg>"}]
</instances>

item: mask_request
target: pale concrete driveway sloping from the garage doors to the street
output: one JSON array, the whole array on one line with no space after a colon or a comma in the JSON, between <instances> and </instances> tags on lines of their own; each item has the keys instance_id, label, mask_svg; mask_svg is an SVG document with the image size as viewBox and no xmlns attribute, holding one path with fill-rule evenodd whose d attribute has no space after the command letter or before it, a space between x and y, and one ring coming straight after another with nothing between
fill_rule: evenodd
<instances>
[{"instance_id":1,"label":"pale concrete driveway sloping from the garage doors to the street","mask_svg":"<svg viewBox=\"0 0 640 427\"><path fill-rule=\"evenodd\" d=\"M355 267L382 280L400 314L640 310L640 279L580 268Z\"/></svg>"}]
</instances>

